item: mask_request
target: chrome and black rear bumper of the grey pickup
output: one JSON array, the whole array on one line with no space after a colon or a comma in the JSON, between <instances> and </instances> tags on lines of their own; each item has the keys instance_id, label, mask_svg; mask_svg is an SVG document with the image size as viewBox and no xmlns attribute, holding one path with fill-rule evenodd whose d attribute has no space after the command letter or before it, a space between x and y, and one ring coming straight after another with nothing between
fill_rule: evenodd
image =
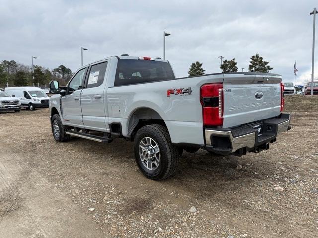
<instances>
[{"instance_id":1,"label":"chrome and black rear bumper of the grey pickup","mask_svg":"<svg viewBox=\"0 0 318 238\"><path fill-rule=\"evenodd\" d=\"M206 149L217 154L242 155L246 152L260 152L269 148L269 143L276 141L281 132L290 129L290 114L282 113L279 117L258 121L261 123L262 135L258 136L251 125L233 129L205 129Z\"/></svg>"}]
</instances>

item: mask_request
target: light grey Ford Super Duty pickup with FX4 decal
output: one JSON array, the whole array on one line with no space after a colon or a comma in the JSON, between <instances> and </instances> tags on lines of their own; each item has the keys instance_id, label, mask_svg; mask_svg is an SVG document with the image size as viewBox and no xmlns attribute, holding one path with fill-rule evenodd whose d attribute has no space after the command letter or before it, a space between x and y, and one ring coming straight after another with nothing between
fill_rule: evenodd
<instances>
[{"instance_id":1,"label":"light grey Ford Super Duty pickup with FX4 decal","mask_svg":"<svg viewBox=\"0 0 318 238\"><path fill-rule=\"evenodd\" d=\"M143 174L165 179L183 149L238 156L268 149L290 129L281 81L270 73L175 78L167 60L112 56L81 67L65 87L50 82L52 132L60 142L134 141Z\"/></svg>"}]
</instances>

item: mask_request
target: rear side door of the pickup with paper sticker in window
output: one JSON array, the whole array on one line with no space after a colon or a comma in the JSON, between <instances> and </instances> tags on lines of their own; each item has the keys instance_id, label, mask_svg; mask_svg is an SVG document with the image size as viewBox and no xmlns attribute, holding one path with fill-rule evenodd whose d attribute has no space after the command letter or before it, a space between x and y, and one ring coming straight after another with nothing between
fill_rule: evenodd
<instances>
[{"instance_id":1,"label":"rear side door of the pickup with paper sticker in window","mask_svg":"<svg viewBox=\"0 0 318 238\"><path fill-rule=\"evenodd\" d=\"M106 78L108 60L90 65L80 94L85 129L107 131Z\"/></svg>"}]
</instances>

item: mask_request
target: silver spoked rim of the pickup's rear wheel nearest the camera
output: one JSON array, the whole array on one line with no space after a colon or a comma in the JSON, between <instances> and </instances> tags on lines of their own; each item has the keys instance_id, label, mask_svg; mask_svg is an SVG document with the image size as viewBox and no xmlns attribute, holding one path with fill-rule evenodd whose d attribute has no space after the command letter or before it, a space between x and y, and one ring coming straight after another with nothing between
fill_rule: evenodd
<instances>
[{"instance_id":1,"label":"silver spoked rim of the pickup's rear wheel nearest the camera","mask_svg":"<svg viewBox=\"0 0 318 238\"><path fill-rule=\"evenodd\" d=\"M160 163L160 149L155 140L144 137L139 143L139 158L149 170L155 170Z\"/></svg>"}]
</instances>

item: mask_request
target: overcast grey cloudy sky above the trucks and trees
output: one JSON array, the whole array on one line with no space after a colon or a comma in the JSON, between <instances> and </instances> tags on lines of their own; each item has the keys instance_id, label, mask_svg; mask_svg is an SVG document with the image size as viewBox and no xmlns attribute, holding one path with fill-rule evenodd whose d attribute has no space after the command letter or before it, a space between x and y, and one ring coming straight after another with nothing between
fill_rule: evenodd
<instances>
[{"instance_id":1,"label":"overcast grey cloudy sky above the trucks and trees","mask_svg":"<svg viewBox=\"0 0 318 238\"><path fill-rule=\"evenodd\" d=\"M222 55L246 71L259 53L272 72L294 81L311 74L313 16L317 0L0 0L0 60L63 64L73 71L111 55L163 56L177 77L187 76L194 61L206 73L220 71ZM318 15L317 15L318 25ZM318 39L316 27L316 39ZM316 49L318 40L316 40ZM318 77L316 50L315 78Z\"/></svg>"}]
</instances>

